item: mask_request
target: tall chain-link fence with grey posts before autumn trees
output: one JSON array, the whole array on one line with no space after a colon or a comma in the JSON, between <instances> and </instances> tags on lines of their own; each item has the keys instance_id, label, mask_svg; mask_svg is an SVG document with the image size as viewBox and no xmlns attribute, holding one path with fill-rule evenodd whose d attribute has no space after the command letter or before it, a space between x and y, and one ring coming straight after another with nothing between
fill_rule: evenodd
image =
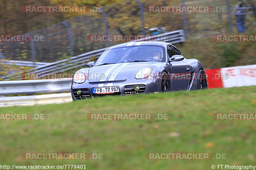
<instances>
[{"instance_id":1,"label":"tall chain-link fence with grey posts before autumn trees","mask_svg":"<svg viewBox=\"0 0 256 170\"><path fill-rule=\"evenodd\" d=\"M230 8L220 12L148 12L148 6L212 6ZM88 12L61 23L28 33L29 42L1 42L0 58L52 63L92 50L122 42L92 42L90 35L152 35L152 28L163 28L159 33L184 29L187 38L236 32L233 8L239 0L124 0L104 6L102 11ZM230 16L228 15L228 9ZM246 16L247 29L255 27L253 15ZM230 25L229 25L230 23ZM37 41L44 36L44 41ZM0 52L1 53L1 52Z\"/></svg>"}]
</instances>

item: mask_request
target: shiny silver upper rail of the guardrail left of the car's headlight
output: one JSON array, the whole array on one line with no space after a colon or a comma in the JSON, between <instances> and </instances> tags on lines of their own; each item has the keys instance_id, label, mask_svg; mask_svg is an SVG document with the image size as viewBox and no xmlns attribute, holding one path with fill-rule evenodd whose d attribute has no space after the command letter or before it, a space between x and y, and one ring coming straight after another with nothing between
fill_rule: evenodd
<instances>
[{"instance_id":1,"label":"shiny silver upper rail of the guardrail left of the car's headlight","mask_svg":"<svg viewBox=\"0 0 256 170\"><path fill-rule=\"evenodd\" d=\"M1 95L69 92L71 79L0 81Z\"/></svg>"}]
</instances>

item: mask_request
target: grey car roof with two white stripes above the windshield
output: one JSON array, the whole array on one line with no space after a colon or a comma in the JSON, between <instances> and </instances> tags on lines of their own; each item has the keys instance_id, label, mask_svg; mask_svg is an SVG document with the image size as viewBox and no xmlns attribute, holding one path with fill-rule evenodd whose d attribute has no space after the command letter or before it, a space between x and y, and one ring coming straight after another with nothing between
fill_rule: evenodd
<instances>
[{"instance_id":1,"label":"grey car roof with two white stripes above the windshield","mask_svg":"<svg viewBox=\"0 0 256 170\"><path fill-rule=\"evenodd\" d=\"M170 44L170 43L162 42L162 41L134 41L134 42L126 42L123 44L118 44L108 49L118 48L118 47L127 47L127 46L138 46L138 45L158 45L158 46L165 47L167 44Z\"/></svg>"}]
</instances>

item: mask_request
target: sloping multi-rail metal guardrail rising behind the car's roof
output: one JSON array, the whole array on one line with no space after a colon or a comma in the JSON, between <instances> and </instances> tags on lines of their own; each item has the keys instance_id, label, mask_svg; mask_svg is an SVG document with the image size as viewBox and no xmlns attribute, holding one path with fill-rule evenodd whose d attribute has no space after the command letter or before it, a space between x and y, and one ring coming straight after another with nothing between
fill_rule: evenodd
<instances>
[{"instance_id":1,"label":"sloping multi-rail metal guardrail rising behind the car's roof","mask_svg":"<svg viewBox=\"0 0 256 170\"><path fill-rule=\"evenodd\" d=\"M168 33L158 34L156 36L147 37L145 39L140 39L137 41L165 41L171 44L178 42L184 42L184 32L183 30L172 31ZM98 49L88 53L84 53L78 56L71 57L69 59L60 60L54 63L49 63L47 65L36 67L36 71L32 73L57 73L70 70L73 68L78 68L85 66L85 62L88 62L89 59L93 56L99 57L107 48Z\"/></svg>"}]
</instances>

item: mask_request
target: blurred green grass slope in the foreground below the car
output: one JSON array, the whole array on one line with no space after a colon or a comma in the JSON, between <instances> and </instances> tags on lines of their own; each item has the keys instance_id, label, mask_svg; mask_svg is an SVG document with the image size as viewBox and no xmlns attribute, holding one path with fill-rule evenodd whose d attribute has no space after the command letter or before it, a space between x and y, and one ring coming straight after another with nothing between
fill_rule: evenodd
<instances>
[{"instance_id":1,"label":"blurred green grass slope in the foreground below the car","mask_svg":"<svg viewBox=\"0 0 256 170\"><path fill-rule=\"evenodd\" d=\"M0 121L6 165L85 164L86 169L212 169L254 165L255 121L217 121L214 113L255 113L256 86L102 97L65 104L4 107L0 113L45 113L47 120ZM169 120L92 121L89 113L162 113ZM170 133L176 132L178 137ZM207 144L209 144L207 147ZM105 153L103 160L24 160L22 153ZM228 153L227 160L148 160L149 152Z\"/></svg>"}]
</instances>

